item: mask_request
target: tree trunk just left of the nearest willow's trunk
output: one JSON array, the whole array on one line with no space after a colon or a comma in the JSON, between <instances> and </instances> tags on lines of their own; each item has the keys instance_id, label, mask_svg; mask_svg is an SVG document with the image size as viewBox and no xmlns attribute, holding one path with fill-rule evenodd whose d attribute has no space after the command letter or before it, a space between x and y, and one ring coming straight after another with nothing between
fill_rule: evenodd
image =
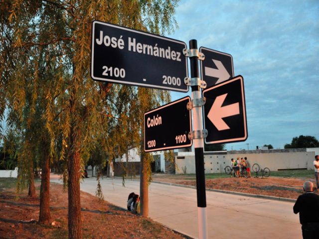
<instances>
[{"instance_id":1,"label":"tree trunk just left of the nearest willow's trunk","mask_svg":"<svg viewBox=\"0 0 319 239\"><path fill-rule=\"evenodd\" d=\"M41 188L40 188L40 224L49 224L51 220L50 214L50 157L48 145L46 144L43 152Z\"/></svg>"}]
</instances>

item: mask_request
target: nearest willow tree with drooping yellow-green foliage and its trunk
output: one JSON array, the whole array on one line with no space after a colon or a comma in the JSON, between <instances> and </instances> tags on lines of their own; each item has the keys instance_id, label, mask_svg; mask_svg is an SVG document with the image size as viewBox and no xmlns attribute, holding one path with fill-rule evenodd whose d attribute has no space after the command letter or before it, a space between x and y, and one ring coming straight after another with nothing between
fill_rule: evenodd
<instances>
[{"instance_id":1,"label":"nearest willow tree with drooping yellow-green foliage and its trunk","mask_svg":"<svg viewBox=\"0 0 319 239\"><path fill-rule=\"evenodd\" d=\"M97 83L90 79L91 22L98 19L162 34L175 25L173 14L176 2L1 2L5 5L0 8L5 15L1 21L5 22L5 31L10 33L11 38L7 41L10 52L7 51L5 57L13 53L15 56L14 63L8 64L6 73L6 81L10 84L10 102L14 107L7 107L11 109L10 117L19 118L20 122L27 122L26 117L32 119L30 125L38 122L43 133L37 138L44 141L39 140L35 150L47 147L44 150L46 157L40 158L41 165L47 168L47 162L54 154L59 154L60 160L66 161L69 238L82 238L79 180L85 160L101 140L102 145L99 146L110 155L109 158L125 148L123 144L127 145L127 134L132 135L130 144L139 145L141 114L147 108L143 102L149 101L148 108L156 107L169 95L164 91ZM128 101L123 101L124 97ZM16 99L19 101L16 102ZM40 121L37 121L35 112L39 112L37 117ZM128 127L119 127L119 124ZM26 134L27 126L22 124ZM61 145L57 147L57 144ZM56 152L56 148L60 151ZM47 175L48 171L43 173ZM43 190L48 190L47 185Z\"/></svg>"}]
</instances>

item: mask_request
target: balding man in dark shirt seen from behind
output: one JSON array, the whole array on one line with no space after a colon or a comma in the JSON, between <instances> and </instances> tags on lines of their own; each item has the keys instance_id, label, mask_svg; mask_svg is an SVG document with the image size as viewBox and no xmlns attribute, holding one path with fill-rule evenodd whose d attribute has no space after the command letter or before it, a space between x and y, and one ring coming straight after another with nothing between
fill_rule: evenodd
<instances>
[{"instance_id":1,"label":"balding man in dark shirt seen from behind","mask_svg":"<svg viewBox=\"0 0 319 239\"><path fill-rule=\"evenodd\" d=\"M303 195L300 195L294 205L294 213L299 213L304 239L319 238L319 195L314 193L314 184L304 183Z\"/></svg>"}]
</instances>

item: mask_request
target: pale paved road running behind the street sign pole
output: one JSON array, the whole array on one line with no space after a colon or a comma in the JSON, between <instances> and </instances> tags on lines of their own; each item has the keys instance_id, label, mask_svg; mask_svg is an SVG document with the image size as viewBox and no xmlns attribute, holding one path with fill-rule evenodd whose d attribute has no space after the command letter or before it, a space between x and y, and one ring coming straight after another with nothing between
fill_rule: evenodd
<instances>
[{"instance_id":1,"label":"pale paved road running behind the street sign pole","mask_svg":"<svg viewBox=\"0 0 319 239\"><path fill-rule=\"evenodd\" d=\"M58 182L52 177L51 181ZM61 181L59 181L61 183ZM97 181L85 179L81 190L95 195ZM106 201L126 208L130 192L139 193L140 182L121 179L101 181ZM299 216L291 202L206 192L208 236L214 239L300 239ZM196 190L152 183L150 217L192 238L198 237Z\"/></svg>"}]
</instances>

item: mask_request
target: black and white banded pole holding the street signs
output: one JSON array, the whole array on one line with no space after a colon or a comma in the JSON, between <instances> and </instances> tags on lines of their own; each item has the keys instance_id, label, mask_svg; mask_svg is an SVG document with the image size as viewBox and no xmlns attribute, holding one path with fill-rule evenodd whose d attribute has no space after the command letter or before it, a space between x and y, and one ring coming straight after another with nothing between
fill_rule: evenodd
<instances>
[{"instance_id":1,"label":"black and white banded pole holding the street signs","mask_svg":"<svg viewBox=\"0 0 319 239\"><path fill-rule=\"evenodd\" d=\"M184 49L183 54L189 57L190 77L185 78L186 85L191 86L191 103L187 106L193 113L193 131L188 137L193 140L195 148L196 188L197 188L197 215L198 238L208 239L206 215L206 191L204 169L204 137L207 130L203 129L202 106L205 98L201 98L200 88L206 88L206 83L199 78L198 59L204 60L204 55L198 52L197 40L189 41L189 50Z\"/></svg>"}]
</instances>

